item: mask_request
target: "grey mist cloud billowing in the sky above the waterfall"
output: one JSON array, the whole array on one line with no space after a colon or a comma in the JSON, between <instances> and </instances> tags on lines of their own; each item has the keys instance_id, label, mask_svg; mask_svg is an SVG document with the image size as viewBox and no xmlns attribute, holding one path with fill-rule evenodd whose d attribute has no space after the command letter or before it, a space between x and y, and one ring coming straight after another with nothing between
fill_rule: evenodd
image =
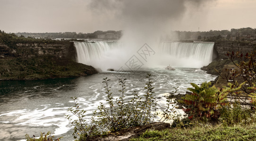
<instances>
[{"instance_id":1,"label":"grey mist cloud billowing in the sky above the waterfall","mask_svg":"<svg viewBox=\"0 0 256 141\"><path fill-rule=\"evenodd\" d=\"M92 0L88 7L96 15L114 15L124 25L124 37L149 41L209 1L214 0Z\"/></svg>"}]
</instances>

